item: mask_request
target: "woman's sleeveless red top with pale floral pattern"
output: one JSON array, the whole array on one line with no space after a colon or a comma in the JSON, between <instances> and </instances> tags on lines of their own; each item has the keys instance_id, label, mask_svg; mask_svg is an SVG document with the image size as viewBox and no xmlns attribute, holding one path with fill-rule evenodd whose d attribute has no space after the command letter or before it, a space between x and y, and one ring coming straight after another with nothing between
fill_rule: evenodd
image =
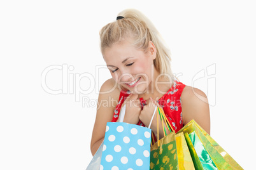
<instances>
[{"instance_id":1,"label":"woman's sleeveless red top with pale floral pattern","mask_svg":"<svg viewBox=\"0 0 256 170\"><path fill-rule=\"evenodd\" d=\"M185 88L185 84L174 81L173 87L170 88L164 96L162 96L157 102L159 105L162 106L164 109L164 114L168 121L170 122L171 126L173 127L174 131L178 132L181 128L183 128L183 120L182 120L182 109L181 109L181 93ZM117 122L120 109L124 100L129 96L130 91L121 91L117 107L115 108L115 112L113 114L113 119L111 122ZM141 107L143 109L143 105L146 105L145 100L140 98L141 100ZM143 122L139 121L138 125L145 126Z\"/></svg>"}]
</instances>

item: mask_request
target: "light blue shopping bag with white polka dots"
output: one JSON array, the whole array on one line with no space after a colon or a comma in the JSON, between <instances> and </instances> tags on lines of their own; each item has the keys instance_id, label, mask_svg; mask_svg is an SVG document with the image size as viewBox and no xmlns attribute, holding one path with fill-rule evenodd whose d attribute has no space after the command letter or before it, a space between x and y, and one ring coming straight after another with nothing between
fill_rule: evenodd
<instances>
[{"instance_id":1,"label":"light blue shopping bag with white polka dots","mask_svg":"<svg viewBox=\"0 0 256 170\"><path fill-rule=\"evenodd\" d=\"M151 129L125 122L108 122L99 169L149 169L150 141Z\"/></svg>"}]
</instances>

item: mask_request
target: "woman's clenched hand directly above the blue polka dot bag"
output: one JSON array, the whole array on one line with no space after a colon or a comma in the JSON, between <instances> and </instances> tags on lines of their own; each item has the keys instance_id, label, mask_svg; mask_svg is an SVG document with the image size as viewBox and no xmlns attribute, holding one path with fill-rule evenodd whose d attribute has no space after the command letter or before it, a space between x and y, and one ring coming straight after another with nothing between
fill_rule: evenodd
<instances>
[{"instance_id":1,"label":"woman's clenched hand directly above the blue polka dot bag","mask_svg":"<svg viewBox=\"0 0 256 170\"><path fill-rule=\"evenodd\" d=\"M124 122L131 123L131 124L138 124L139 122L139 115L141 113L141 104L138 99L138 95L129 95L122 107L125 104L125 115L124 115ZM122 109L122 108L121 108Z\"/></svg>"}]
</instances>

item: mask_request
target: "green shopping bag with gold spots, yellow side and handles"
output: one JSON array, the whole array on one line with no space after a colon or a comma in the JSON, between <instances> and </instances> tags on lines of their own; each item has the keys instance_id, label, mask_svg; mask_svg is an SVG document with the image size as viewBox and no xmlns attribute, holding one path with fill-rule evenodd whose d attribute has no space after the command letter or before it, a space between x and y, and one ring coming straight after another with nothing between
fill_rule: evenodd
<instances>
[{"instance_id":1,"label":"green shopping bag with gold spots, yellow side and handles","mask_svg":"<svg viewBox=\"0 0 256 170\"><path fill-rule=\"evenodd\" d=\"M159 140L159 125L157 124L157 143L151 147L150 169L194 170L194 162L190 155L190 151L188 150L187 141L185 140L183 133L175 134L174 130L171 128L171 124L167 121L164 111L161 108L158 108L158 111L157 122L159 122L160 115L164 138ZM169 131L170 133L167 134L166 131Z\"/></svg>"}]
</instances>

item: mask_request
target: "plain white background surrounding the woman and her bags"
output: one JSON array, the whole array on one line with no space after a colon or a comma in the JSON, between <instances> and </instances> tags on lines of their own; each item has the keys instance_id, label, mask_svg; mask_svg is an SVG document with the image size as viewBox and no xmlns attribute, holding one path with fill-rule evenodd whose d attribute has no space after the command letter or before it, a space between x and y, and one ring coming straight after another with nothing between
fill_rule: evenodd
<instances>
[{"instance_id":1,"label":"plain white background surrounding the woman and her bags","mask_svg":"<svg viewBox=\"0 0 256 170\"><path fill-rule=\"evenodd\" d=\"M208 95L211 136L244 169L253 166L253 1L54 0L0 3L0 169L87 167L97 91L110 78L105 69L96 75L96 66L105 64L99 30L126 8L142 11L155 24L171 49L180 81L195 82ZM88 92L80 95L85 105L71 88L59 95L43 89L41 75L51 65L73 66L68 70L73 86L71 77L81 75L75 90ZM195 81L207 67L213 75L205 72ZM48 88L61 89L65 83L62 70L48 72Z\"/></svg>"}]
</instances>

